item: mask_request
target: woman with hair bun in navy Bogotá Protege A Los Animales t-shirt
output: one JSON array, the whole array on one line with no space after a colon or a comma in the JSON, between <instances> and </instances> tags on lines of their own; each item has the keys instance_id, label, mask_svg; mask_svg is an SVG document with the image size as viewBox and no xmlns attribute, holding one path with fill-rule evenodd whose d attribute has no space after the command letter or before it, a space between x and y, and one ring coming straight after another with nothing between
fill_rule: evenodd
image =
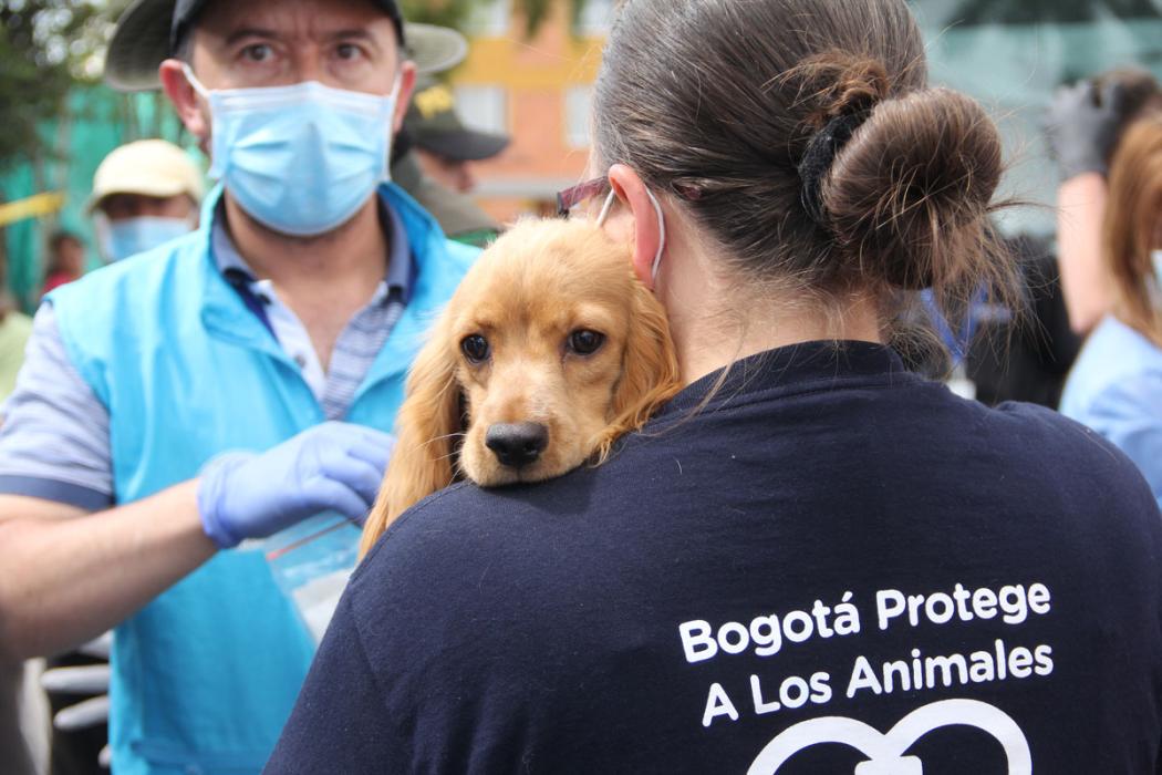
<instances>
[{"instance_id":1,"label":"woman with hair bun in navy Bogot\u00e1 Protege A Los Animales t-shirt","mask_svg":"<svg viewBox=\"0 0 1162 775\"><path fill-rule=\"evenodd\" d=\"M404 515L267 772L1157 772L1149 488L897 354L918 290L1014 287L997 129L905 0L626 0L595 94L562 204L687 387L602 466Z\"/></svg>"}]
</instances>

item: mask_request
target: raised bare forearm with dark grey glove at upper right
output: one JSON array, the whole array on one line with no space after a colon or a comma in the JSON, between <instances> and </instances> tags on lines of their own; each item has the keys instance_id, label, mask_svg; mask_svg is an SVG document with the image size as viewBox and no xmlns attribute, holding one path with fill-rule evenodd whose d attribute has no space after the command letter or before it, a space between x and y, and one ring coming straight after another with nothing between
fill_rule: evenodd
<instances>
[{"instance_id":1,"label":"raised bare forearm with dark grey glove at upper right","mask_svg":"<svg viewBox=\"0 0 1162 775\"><path fill-rule=\"evenodd\" d=\"M1135 117L1162 108L1162 87L1143 70L1119 69L1057 92L1046 120L1057 188L1057 260L1069 323L1082 336L1110 311L1114 289L1102 260L1106 172Z\"/></svg>"}]
</instances>

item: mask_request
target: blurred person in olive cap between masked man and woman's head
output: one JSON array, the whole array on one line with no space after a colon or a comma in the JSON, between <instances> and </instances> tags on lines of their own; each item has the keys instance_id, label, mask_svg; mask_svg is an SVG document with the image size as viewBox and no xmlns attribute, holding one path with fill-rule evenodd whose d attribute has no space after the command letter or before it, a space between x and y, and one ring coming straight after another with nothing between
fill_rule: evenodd
<instances>
[{"instance_id":1,"label":"blurred person in olive cap between masked man and woman's head","mask_svg":"<svg viewBox=\"0 0 1162 775\"><path fill-rule=\"evenodd\" d=\"M424 78L397 138L392 180L431 213L449 237L485 245L501 225L468 196L476 187L472 164L496 157L508 144L502 135L466 128L452 92Z\"/></svg>"}]
</instances>

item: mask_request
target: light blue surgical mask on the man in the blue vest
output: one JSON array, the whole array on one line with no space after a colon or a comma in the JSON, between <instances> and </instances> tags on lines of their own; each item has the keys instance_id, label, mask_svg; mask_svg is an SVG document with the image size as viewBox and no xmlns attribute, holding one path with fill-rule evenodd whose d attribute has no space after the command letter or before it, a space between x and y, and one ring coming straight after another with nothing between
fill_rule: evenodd
<instances>
[{"instance_id":1,"label":"light blue surgical mask on the man in the blue vest","mask_svg":"<svg viewBox=\"0 0 1162 775\"><path fill-rule=\"evenodd\" d=\"M210 105L210 177L270 229L294 236L331 231L389 180L399 81L387 96L316 81L210 92L185 70Z\"/></svg>"}]
</instances>

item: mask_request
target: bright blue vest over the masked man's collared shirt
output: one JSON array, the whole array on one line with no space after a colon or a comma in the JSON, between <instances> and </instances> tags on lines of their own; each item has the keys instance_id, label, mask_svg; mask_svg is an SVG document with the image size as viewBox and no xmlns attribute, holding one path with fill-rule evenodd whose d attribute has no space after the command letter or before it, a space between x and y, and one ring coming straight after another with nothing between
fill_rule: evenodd
<instances>
[{"instance_id":1,"label":"bright blue vest over the masked man's collared shirt","mask_svg":"<svg viewBox=\"0 0 1162 775\"><path fill-rule=\"evenodd\" d=\"M380 194L403 221L416 278L346 419L387 431L424 332L479 251L449 242L399 187ZM217 271L220 198L199 231L52 296L66 352L109 410L121 504L198 476L220 452L267 450L324 419L299 366ZM117 627L116 772L259 772L313 651L261 554L220 552Z\"/></svg>"}]
</instances>

